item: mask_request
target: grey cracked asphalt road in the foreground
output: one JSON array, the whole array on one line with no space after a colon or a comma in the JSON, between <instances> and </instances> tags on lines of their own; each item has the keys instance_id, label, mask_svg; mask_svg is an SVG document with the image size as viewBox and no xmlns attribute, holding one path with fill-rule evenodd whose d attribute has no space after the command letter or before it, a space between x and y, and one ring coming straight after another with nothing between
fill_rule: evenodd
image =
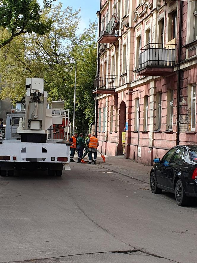
<instances>
[{"instance_id":1,"label":"grey cracked asphalt road in the foreground","mask_svg":"<svg viewBox=\"0 0 197 263\"><path fill-rule=\"evenodd\" d=\"M0 177L0 262L196 262L197 203L110 171Z\"/></svg>"}]
</instances>

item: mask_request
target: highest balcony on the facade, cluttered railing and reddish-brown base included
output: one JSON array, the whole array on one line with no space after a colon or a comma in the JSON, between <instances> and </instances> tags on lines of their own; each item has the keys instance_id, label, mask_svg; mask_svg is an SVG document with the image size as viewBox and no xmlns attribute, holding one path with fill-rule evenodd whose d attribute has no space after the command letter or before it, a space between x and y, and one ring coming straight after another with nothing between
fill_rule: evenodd
<instances>
[{"instance_id":1,"label":"highest balcony on the facade, cluttered railing and reddish-brown base included","mask_svg":"<svg viewBox=\"0 0 197 263\"><path fill-rule=\"evenodd\" d=\"M114 16L110 21L105 21L102 27L99 43L115 43L119 36L120 22Z\"/></svg>"}]
</instances>

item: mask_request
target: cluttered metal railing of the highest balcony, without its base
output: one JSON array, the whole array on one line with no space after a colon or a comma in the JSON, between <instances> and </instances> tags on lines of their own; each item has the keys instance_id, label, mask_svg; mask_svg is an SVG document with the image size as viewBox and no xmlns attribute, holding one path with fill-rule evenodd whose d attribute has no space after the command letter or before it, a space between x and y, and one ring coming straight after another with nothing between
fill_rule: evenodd
<instances>
[{"instance_id":1,"label":"cluttered metal railing of the highest balcony, without its base","mask_svg":"<svg viewBox=\"0 0 197 263\"><path fill-rule=\"evenodd\" d=\"M99 37L102 37L103 35L118 37L119 27L120 27L120 22L118 21L117 18L114 18L113 21L112 20L104 21Z\"/></svg>"}]
</instances>

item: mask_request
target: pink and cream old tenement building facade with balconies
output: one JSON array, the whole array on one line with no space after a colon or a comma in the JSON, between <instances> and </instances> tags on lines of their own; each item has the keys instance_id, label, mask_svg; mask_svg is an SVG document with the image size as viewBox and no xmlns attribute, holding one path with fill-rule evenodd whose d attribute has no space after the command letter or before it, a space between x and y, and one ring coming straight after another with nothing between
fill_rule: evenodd
<instances>
[{"instance_id":1,"label":"pink and cream old tenement building facade with balconies","mask_svg":"<svg viewBox=\"0 0 197 263\"><path fill-rule=\"evenodd\" d=\"M95 132L106 155L152 165L197 142L197 2L101 0ZM178 99L177 99L178 98Z\"/></svg>"}]
</instances>

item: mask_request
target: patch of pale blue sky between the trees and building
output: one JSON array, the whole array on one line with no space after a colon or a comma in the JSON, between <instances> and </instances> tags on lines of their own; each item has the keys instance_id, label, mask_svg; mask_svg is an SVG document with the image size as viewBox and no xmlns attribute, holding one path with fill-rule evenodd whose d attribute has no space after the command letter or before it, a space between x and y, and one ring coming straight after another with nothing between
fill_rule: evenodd
<instances>
[{"instance_id":1,"label":"patch of pale blue sky between the trees and building","mask_svg":"<svg viewBox=\"0 0 197 263\"><path fill-rule=\"evenodd\" d=\"M96 12L100 8L100 0L57 0L54 4L57 4L58 2L63 3L63 8L67 6L72 6L75 10L81 8L81 22L78 34L83 33L83 30L88 27L89 20L91 20L91 22L95 20L97 21Z\"/></svg>"}]
</instances>

